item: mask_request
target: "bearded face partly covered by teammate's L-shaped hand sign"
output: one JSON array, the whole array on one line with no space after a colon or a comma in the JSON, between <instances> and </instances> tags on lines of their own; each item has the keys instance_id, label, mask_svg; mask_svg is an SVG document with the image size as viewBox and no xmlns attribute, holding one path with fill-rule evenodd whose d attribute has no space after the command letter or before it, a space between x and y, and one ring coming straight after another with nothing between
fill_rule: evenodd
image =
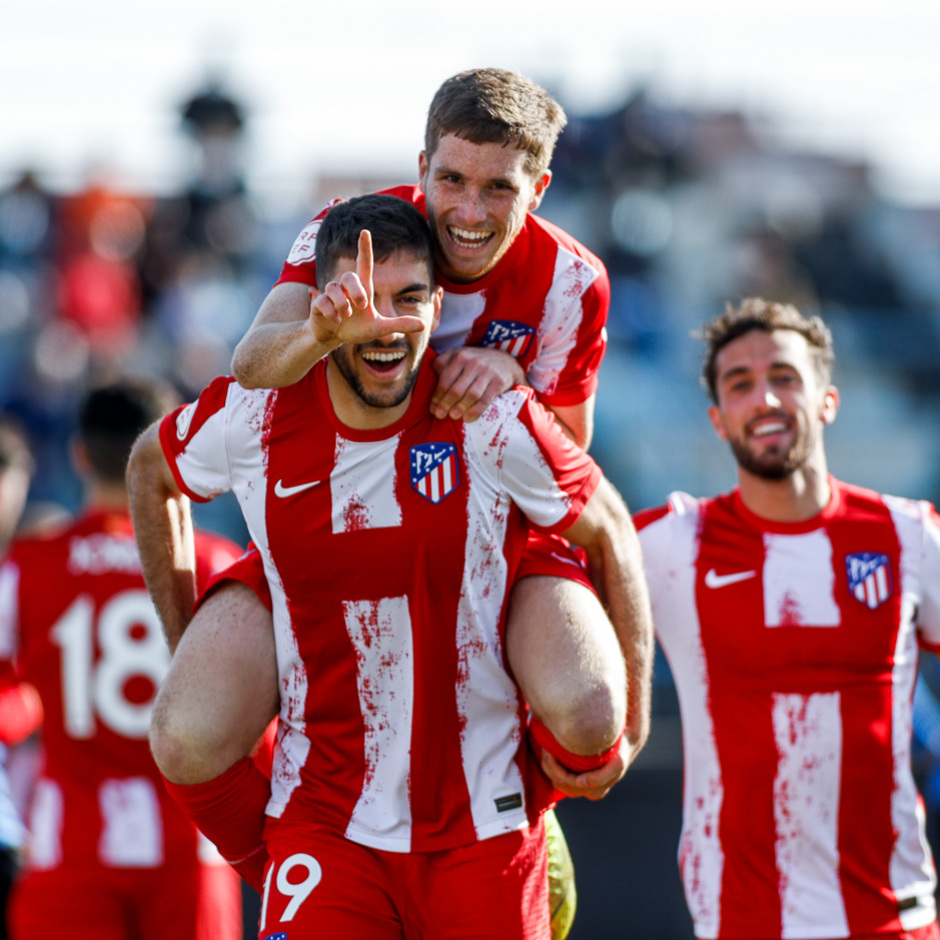
<instances>
[{"instance_id":1,"label":"bearded face partly covered by teammate's L-shaped hand sign","mask_svg":"<svg viewBox=\"0 0 940 940\"><path fill-rule=\"evenodd\" d=\"M356 270L355 258L341 258L332 272L338 280ZM398 251L377 261L372 272L375 309L385 317L416 316L426 324L419 333L392 333L370 343L345 343L331 353L359 407L394 408L411 393L431 333L441 313L440 288L431 287L424 259Z\"/></svg>"}]
</instances>

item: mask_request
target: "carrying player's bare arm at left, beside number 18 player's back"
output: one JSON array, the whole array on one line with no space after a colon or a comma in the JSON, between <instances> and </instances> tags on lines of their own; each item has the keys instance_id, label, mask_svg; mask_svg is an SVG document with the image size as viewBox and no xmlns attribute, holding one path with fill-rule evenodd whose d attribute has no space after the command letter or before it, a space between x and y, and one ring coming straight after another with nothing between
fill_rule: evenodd
<instances>
[{"instance_id":1,"label":"carrying player's bare arm at left, beside number 18 player's back","mask_svg":"<svg viewBox=\"0 0 940 940\"><path fill-rule=\"evenodd\" d=\"M173 652L192 619L196 551L189 499L171 479L151 428L134 447L127 483L141 568Z\"/></svg>"}]
</instances>

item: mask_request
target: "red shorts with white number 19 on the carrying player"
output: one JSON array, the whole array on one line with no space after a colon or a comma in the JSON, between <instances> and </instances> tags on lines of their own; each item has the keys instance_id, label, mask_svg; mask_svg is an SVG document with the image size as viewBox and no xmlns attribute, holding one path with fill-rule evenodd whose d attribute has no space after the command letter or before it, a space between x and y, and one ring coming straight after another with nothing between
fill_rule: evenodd
<instances>
[{"instance_id":1,"label":"red shorts with white number 19 on the carrying player","mask_svg":"<svg viewBox=\"0 0 940 940\"><path fill-rule=\"evenodd\" d=\"M276 821L265 838L261 938L550 940L541 820L441 852L385 852Z\"/></svg>"}]
</instances>

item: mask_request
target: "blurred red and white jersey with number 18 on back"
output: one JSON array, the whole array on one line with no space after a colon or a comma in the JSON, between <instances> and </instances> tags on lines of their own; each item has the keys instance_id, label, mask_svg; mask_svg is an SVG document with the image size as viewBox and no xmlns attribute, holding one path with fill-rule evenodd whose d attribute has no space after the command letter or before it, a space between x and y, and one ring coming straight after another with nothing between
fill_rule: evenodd
<instances>
[{"instance_id":1,"label":"blurred red and white jersey with number 18 on back","mask_svg":"<svg viewBox=\"0 0 940 940\"><path fill-rule=\"evenodd\" d=\"M201 582L241 551L204 534L196 546ZM30 868L185 869L200 854L221 863L208 843L200 848L150 754L170 654L126 513L91 511L59 533L14 542L0 567L0 660L43 703Z\"/></svg>"}]
</instances>

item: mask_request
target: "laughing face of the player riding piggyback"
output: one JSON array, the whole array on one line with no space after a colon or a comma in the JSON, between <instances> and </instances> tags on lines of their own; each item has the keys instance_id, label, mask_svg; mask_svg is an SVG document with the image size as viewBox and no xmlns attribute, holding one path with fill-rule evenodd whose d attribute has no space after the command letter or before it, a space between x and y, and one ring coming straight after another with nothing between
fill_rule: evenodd
<instances>
[{"instance_id":1,"label":"laughing face of the player riding piggyback","mask_svg":"<svg viewBox=\"0 0 940 940\"><path fill-rule=\"evenodd\" d=\"M498 143L473 144L447 134L430 159L418 161L427 197L437 266L452 281L475 281L491 271L538 208L551 173L533 176L527 154Z\"/></svg>"}]
</instances>

